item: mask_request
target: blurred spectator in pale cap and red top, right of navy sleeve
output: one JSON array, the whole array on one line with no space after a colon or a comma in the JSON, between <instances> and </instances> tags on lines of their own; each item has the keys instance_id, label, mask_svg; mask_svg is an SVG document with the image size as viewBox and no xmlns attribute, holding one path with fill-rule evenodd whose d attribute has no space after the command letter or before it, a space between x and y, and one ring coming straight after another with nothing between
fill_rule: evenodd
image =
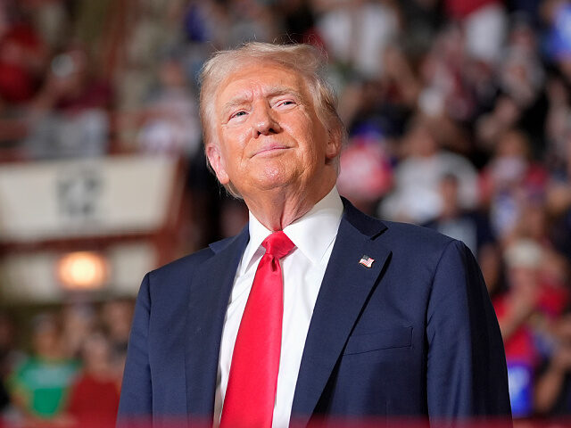
<instances>
[{"instance_id":1,"label":"blurred spectator in pale cap and red top, right of navy sleeve","mask_svg":"<svg viewBox=\"0 0 571 428\"><path fill-rule=\"evenodd\" d=\"M493 304L506 349L512 411L515 417L530 417L550 410L559 391L556 376L546 367L552 363L551 368L560 369L564 362L560 327L569 302L566 265L525 235L507 245L504 258L508 291Z\"/></svg>"}]
</instances>

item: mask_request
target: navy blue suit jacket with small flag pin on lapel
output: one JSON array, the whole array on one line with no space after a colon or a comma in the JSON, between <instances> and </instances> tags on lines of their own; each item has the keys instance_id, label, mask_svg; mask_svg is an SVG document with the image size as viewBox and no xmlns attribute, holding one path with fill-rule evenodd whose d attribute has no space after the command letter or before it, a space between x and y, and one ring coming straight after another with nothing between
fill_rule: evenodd
<instances>
[{"instance_id":1,"label":"navy blue suit jacket with small flag pin on lapel","mask_svg":"<svg viewBox=\"0 0 571 428\"><path fill-rule=\"evenodd\" d=\"M343 201L310 321L292 421L509 416L500 329L468 248ZM248 229L145 276L120 420L211 422L222 326ZM363 255L375 261L359 263Z\"/></svg>"}]
</instances>

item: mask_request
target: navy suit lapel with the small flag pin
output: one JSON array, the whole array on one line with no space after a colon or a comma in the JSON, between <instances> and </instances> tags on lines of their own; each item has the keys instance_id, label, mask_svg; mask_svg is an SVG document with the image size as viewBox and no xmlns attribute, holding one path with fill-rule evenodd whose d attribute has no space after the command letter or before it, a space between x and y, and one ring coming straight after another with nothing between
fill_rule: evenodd
<instances>
[{"instance_id":1,"label":"navy suit lapel with the small flag pin","mask_svg":"<svg viewBox=\"0 0 571 428\"><path fill-rule=\"evenodd\" d=\"M292 407L295 426L307 424L361 309L391 251L374 243L385 226L345 203L343 219L313 310ZM370 268L362 256L374 259Z\"/></svg>"}]
</instances>

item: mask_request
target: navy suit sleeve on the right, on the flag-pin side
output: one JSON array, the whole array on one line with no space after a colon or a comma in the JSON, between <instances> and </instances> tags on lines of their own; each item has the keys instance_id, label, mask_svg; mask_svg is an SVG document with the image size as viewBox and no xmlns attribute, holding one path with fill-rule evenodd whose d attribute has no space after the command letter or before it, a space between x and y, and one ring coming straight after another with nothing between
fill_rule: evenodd
<instances>
[{"instance_id":1,"label":"navy suit sleeve on the right, on the flag-pin side","mask_svg":"<svg viewBox=\"0 0 571 428\"><path fill-rule=\"evenodd\" d=\"M426 317L431 421L509 416L500 328L476 260L459 241L438 262Z\"/></svg>"}]
</instances>

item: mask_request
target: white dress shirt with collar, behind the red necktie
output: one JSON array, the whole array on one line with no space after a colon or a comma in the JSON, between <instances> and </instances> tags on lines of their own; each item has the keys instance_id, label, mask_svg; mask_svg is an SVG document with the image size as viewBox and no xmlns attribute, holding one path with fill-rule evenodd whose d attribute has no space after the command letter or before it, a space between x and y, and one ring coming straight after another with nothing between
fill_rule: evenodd
<instances>
[{"instance_id":1,"label":"white dress shirt with collar, behind the red necktie","mask_svg":"<svg viewBox=\"0 0 571 428\"><path fill-rule=\"evenodd\" d=\"M273 428L282 428L289 424L305 337L342 215L343 202L334 187L307 214L284 229L285 235L292 240L295 248L280 260L284 276L284 318ZM238 327L252 288L253 276L265 252L261 243L272 233L252 212L249 230L250 241L236 270L222 330L214 404L214 424L217 426L226 394Z\"/></svg>"}]
</instances>

